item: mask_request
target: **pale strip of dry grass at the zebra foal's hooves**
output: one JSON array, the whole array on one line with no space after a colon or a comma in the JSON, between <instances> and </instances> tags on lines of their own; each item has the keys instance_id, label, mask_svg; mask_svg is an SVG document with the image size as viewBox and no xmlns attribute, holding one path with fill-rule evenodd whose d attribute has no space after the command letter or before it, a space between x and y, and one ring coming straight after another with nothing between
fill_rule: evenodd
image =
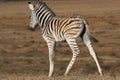
<instances>
[{"instance_id":1,"label":"pale strip of dry grass at the zebra foal's hooves","mask_svg":"<svg viewBox=\"0 0 120 80\"><path fill-rule=\"evenodd\" d=\"M99 75L79 75L79 76L54 76L48 78L45 75L1 75L1 80L119 80L120 76L110 76L109 74L100 77Z\"/></svg>"}]
</instances>

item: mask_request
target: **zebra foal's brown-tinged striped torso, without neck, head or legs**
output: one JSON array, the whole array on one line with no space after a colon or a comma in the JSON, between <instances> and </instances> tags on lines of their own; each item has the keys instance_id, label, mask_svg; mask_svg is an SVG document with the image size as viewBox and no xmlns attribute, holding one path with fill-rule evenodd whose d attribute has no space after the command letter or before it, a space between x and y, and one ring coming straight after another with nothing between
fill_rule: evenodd
<instances>
[{"instance_id":1,"label":"zebra foal's brown-tinged striped torso, without neck, head or legs","mask_svg":"<svg viewBox=\"0 0 120 80\"><path fill-rule=\"evenodd\" d=\"M42 31L44 37L51 37L56 42L64 41L66 37L78 37L84 24L75 18L55 18L47 23Z\"/></svg>"}]
</instances>

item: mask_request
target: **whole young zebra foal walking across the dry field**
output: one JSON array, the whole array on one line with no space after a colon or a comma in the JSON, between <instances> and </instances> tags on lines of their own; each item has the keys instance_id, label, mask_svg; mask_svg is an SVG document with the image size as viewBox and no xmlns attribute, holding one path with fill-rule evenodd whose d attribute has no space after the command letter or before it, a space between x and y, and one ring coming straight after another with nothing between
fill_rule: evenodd
<instances>
[{"instance_id":1,"label":"whole young zebra foal walking across the dry field","mask_svg":"<svg viewBox=\"0 0 120 80\"><path fill-rule=\"evenodd\" d=\"M64 74L67 76L76 61L76 57L80 53L76 43L77 37L82 38L83 42L88 47L91 56L95 60L98 72L101 76L103 75L97 56L91 45L91 41L97 42L97 40L91 35L89 24L85 18L78 15L66 18L57 17L56 14L46 5L46 3L41 1L37 1L35 4L28 1L28 7L31 12L30 29L34 31L37 25L39 25L42 31L42 37L48 46L50 63L48 77L53 75L55 45L60 41L66 41L73 53L72 59L69 62Z\"/></svg>"}]
</instances>

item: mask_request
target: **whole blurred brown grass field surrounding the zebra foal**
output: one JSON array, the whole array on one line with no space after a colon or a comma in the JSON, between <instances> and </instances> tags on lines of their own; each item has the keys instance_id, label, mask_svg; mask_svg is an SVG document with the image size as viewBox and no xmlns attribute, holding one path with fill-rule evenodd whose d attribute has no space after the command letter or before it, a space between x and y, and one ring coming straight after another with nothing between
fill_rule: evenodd
<instances>
[{"instance_id":1,"label":"whole blurred brown grass field surrounding the zebra foal","mask_svg":"<svg viewBox=\"0 0 120 80\"><path fill-rule=\"evenodd\" d=\"M0 2L0 80L120 80L120 0L44 0L59 17L86 17L99 40L94 49L104 76L100 77L88 49L77 39L81 54L69 75L72 57L66 42L56 47L55 70L48 78L49 60L40 29L31 32L27 0Z\"/></svg>"}]
</instances>

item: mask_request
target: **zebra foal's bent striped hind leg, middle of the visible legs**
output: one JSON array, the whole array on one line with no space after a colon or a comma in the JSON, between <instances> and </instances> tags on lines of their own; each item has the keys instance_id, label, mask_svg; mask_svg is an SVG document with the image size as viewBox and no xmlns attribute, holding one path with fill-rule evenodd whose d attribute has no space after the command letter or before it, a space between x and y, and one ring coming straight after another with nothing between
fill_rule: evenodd
<instances>
[{"instance_id":1,"label":"zebra foal's bent striped hind leg, middle of the visible legs","mask_svg":"<svg viewBox=\"0 0 120 80\"><path fill-rule=\"evenodd\" d=\"M80 53L80 50L78 48L78 45L76 43L76 40L75 39L68 39L66 40L68 45L70 46L70 48L72 49L72 52L73 52L73 56L72 56L72 59L65 71L65 76L67 76L67 74L69 73L70 69L72 68L73 64L75 63L76 61L76 57L78 56L78 54Z\"/></svg>"}]
</instances>

